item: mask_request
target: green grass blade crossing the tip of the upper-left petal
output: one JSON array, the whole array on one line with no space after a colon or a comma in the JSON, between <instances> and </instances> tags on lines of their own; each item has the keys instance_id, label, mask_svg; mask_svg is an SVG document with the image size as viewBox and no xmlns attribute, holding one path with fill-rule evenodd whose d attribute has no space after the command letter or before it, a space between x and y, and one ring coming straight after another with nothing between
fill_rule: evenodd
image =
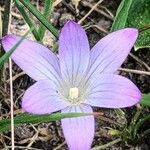
<instances>
[{"instance_id":1,"label":"green grass blade crossing the tip of the upper-left petal","mask_svg":"<svg viewBox=\"0 0 150 150\"><path fill-rule=\"evenodd\" d=\"M15 49L21 44L21 42L30 32L31 30L25 33L24 36L22 36L22 38L12 48L0 58L0 69L2 69L4 63L9 59L11 54L15 51Z\"/></svg>"}]
</instances>

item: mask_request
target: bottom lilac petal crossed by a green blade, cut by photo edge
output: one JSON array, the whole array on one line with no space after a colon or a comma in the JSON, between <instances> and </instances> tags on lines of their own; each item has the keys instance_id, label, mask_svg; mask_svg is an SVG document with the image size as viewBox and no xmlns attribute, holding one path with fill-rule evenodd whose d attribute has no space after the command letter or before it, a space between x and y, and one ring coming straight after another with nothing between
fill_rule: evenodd
<instances>
[{"instance_id":1,"label":"bottom lilac petal crossed by a green blade, cut by photo edge","mask_svg":"<svg viewBox=\"0 0 150 150\"><path fill-rule=\"evenodd\" d=\"M85 112L92 113L88 105L72 106L62 110L62 113ZM90 150L94 138L94 116L62 119L62 128L70 150Z\"/></svg>"}]
</instances>

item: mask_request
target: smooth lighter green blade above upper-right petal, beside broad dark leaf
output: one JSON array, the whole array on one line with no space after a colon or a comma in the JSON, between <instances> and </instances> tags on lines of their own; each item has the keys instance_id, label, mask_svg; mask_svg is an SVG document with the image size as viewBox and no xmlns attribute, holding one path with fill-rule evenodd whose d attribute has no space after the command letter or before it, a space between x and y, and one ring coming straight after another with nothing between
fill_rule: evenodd
<instances>
[{"instance_id":1,"label":"smooth lighter green blade above upper-right petal, beside broad dark leaf","mask_svg":"<svg viewBox=\"0 0 150 150\"><path fill-rule=\"evenodd\" d=\"M111 31L116 31L125 27L132 1L133 0L122 0L117 9L116 17L112 24Z\"/></svg>"}]
</instances>

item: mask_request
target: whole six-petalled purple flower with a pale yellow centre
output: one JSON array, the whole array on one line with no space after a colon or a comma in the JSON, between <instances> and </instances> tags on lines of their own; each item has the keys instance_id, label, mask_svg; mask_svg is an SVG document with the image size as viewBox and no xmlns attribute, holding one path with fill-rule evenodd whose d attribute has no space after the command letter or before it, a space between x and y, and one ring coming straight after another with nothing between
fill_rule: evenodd
<instances>
[{"instance_id":1,"label":"whole six-petalled purple flower with a pale yellow centre","mask_svg":"<svg viewBox=\"0 0 150 150\"><path fill-rule=\"evenodd\" d=\"M37 82L24 94L22 108L32 114L61 110L92 113L91 106L130 107L139 102L139 89L127 78L116 75L134 45L137 29L110 33L90 51L83 28L69 21L59 37L59 57L41 44L24 40L12 59ZM8 51L19 36L7 35L2 44ZM94 117L61 120L69 149L89 150L94 138Z\"/></svg>"}]
</instances>

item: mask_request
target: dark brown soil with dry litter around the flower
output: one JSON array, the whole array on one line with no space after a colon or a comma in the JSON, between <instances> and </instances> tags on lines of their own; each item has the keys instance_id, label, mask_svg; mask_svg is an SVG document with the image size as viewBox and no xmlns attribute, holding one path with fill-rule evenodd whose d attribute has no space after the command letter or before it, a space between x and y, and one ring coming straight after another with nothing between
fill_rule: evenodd
<instances>
[{"instance_id":1,"label":"dark brown soil with dry litter around the flower","mask_svg":"<svg viewBox=\"0 0 150 150\"><path fill-rule=\"evenodd\" d=\"M82 25L85 27L87 35L89 37L91 47L99 41L103 36L105 36L111 27L113 22L113 16L115 16L116 10L120 4L121 0L104 0L93 12L87 16L87 18L82 22ZM78 9L75 8L73 3L69 0L61 1L57 4L53 10L50 17L50 21L58 29L64 25L67 20L80 21L90 9L97 3L96 0L81 0L78 5ZM33 1L36 7L39 10L43 8L43 1ZM0 6L3 8L3 0L0 1ZM94 25L94 26L93 26ZM28 26L23 21L21 15L13 5L12 9L12 19L10 25L10 33L23 35L28 30ZM33 36L30 34L28 38L33 39ZM51 35L51 33L46 32L43 43L52 48L56 39ZM132 50L131 52L136 56L140 61L137 61L133 57L129 56L122 67L135 70L148 71L147 68L143 65L145 62L150 66L150 51L149 49L142 49L137 52ZM8 64L5 65L5 72L3 76L3 82L0 86L0 101L1 101L1 110L0 115L2 118L10 117L10 93L9 93L9 74L8 74ZM20 76L17 76L20 74ZM131 79L142 91L142 93L150 92L150 78L147 75L135 74L125 71L119 71L119 73L125 77ZM14 109L16 114L20 112L20 102L21 97L24 91L30 87L34 81L29 78L27 75L23 74L18 66L13 64L13 76L15 77L14 84ZM133 112L137 108L133 107L130 109L124 109L128 115L128 119L131 119ZM93 141L92 147L97 147L112 140L118 138L118 136L111 136L108 133L109 128L114 127L114 122L122 121L121 118L116 116L114 110L110 109L94 109L97 112L103 112L104 117L107 119L102 119L100 117L96 118L96 133ZM145 108L144 113L149 113L149 109ZM120 120L119 120L120 119ZM113 123L110 123L110 120ZM146 128L150 128L147 125ZM7 132L0 135L0 149L11 149L11 132ZM50 123L41 123L41 124L23 124L15 128L15 145L16 150L21 149L37 149L37 150L66 150L67 145L64 140L60 121L50 122ZM130 142L119 142L107 149L122 150L148 150L150 149L149 138L147 137L143 141L140 141L138 144L133 144Z\"/></svg>"}]
</instances>

